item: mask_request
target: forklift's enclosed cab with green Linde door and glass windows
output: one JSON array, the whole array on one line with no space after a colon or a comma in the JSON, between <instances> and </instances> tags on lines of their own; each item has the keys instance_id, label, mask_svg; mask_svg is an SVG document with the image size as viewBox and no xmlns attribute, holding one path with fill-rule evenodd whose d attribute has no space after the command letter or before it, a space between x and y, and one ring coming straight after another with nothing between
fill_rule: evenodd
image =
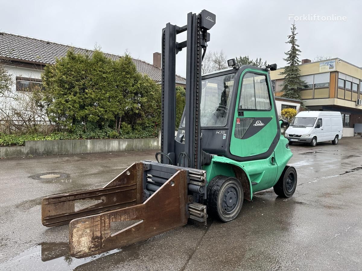
<instances>
[{"instance_id":1,"label":"forklift's enclosed cab with green Linde door and glass windows","mask_svg":"<svg viewBox=\"0 0 362 271\"><path fill-rule=\"evenodd\" d=\"M267 69L244 65L205 74L201 83L202 150L236 161L267 158L280 125ZM185 134L185 112L176 141Z\"/></svg>"}]
</instances>

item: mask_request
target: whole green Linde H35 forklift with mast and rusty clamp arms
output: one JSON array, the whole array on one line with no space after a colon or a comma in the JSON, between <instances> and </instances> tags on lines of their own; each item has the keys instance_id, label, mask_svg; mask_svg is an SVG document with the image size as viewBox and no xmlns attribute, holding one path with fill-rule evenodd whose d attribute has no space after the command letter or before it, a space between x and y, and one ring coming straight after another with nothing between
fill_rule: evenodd
<instances>
[{"instance_id":1,"label":"whole green Linde H35 forklift with mast and rusty clamp arms","mask_svg":"<svg viewBox=\"0 0 362 271\"><path fill-rule=\"evenodd\" d=\"M69 224L70 254L82 258L185 225L208 215L234 220L253 193L274 188L291 197L297 174L281 125L269 70L249 65L201 74L215 14L189 13L162 30L161 151L132 164L99 189L42 201L42 224ZM187 38L176 36L187 31ZM186 105L175 136L176 54L186 48ZM79 210L79 201L92 204ZM129 223L123 229L117 223Z\"/></svg>"}]
</instances>

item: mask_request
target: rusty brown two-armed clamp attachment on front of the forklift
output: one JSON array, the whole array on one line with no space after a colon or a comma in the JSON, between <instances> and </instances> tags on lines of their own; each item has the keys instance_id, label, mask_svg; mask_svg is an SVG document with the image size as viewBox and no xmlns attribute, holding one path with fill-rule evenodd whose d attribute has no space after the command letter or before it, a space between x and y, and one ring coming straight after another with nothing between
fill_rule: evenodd
<instances>
[{"instance_id":1,"label":"rusty brown two-armed clamp attachment on front of the forklift","mask_svg":"<svg viewBox=\"0 0 362 271\"><path fill-rule=\"evenodd\" d=\"M199 169L134 163L103 188L44 198L42 224L69 223L70 254L83 258L180 227L188 218L206 223L206 206L192 202L194 191L206 191L205 175ZM76 201L101 202L76 211ZM132 220L138 221L111 234L113 222Z\"/></svg>"}]
</instances>

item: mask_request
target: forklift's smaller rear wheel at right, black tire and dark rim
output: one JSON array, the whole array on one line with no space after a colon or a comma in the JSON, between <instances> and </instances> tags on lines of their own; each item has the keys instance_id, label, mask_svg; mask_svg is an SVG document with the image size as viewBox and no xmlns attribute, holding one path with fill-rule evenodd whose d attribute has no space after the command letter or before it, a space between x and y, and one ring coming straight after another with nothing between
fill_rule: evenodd
<instances>
[{"instance_id":1,"label":"forklift's smaller rear wheel at right, black tire and dark rim","mask_svg":"<svg viewBox=\"0 0 362 271\"><path fill-rule=\"evenodd\" d=\"M273 186L275 194L282 198L290 198L295 192L296 181L295 168L286 166L278 182Z\"/></svg>"}]
</instances>

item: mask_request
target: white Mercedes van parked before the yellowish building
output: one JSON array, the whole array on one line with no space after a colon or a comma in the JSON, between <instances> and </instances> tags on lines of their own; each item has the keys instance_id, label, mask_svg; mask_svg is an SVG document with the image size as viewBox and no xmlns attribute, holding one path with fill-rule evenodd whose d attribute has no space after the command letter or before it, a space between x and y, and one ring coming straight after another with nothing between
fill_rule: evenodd
<instances>
[{"instance_id":1,"label":"white Mercedes van parked before the yellowish building","mask_svg":"<svg viewBox=\"0 0 362 271\"><path fill-rule=\"evenodd\" d=\"M342 138L342 129L341 112L302 111L295 116L284 136L289 144L308 143L314 147L317 142L332 141L337 145Z\"/></svg>"}]
</instances>

